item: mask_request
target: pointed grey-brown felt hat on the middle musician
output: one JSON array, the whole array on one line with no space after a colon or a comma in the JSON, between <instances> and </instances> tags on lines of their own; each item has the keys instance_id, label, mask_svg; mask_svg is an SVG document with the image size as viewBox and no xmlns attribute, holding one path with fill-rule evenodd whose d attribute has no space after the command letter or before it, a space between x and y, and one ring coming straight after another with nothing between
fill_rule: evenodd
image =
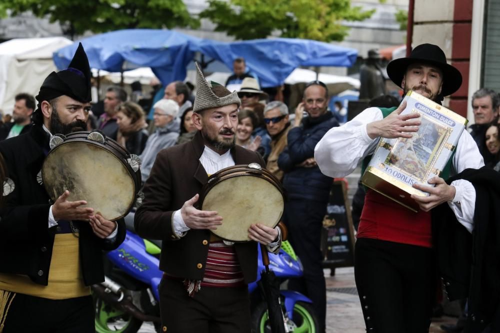
<instances>
[{"instance_id":1,"label":"pointed grey-brown felt hat on the middle musician","mask_svg":"<svg viewBox=\"0 0 500 333\"><path fill-rule=\"evenodd\" d=\"M218 95L224 95L219 97L213 92L214 86L218 86L217 90L222 92ZM224 91L225 90L225 91ZM214 107L222 107L230 104L237 104L238 107L241 105L241 101L237 93L230 92L224 86L216 83L208 83L196 62L196 98L194 99L193 112L200 112L205 109L211 109Z\"/></svg>"}]
</instances>

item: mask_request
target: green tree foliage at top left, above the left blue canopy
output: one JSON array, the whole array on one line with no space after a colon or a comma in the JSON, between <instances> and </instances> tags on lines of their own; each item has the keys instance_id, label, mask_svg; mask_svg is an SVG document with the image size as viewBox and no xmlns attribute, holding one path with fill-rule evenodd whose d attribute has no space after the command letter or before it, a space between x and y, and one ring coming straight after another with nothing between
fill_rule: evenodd
<instances>
[{"instance_id":1,"label":"green tree foliage at top left, above the left blue canopy","mask_svg":"<svg viewBox=\"0 0 500 333\"><path fill-rule=\"evenodd\" d=\"M0 17L31 11L59 21L74 36L85 31L106 32L125 28L199 26L182 0L1 0Z\"/></svg>"}]
</instances>

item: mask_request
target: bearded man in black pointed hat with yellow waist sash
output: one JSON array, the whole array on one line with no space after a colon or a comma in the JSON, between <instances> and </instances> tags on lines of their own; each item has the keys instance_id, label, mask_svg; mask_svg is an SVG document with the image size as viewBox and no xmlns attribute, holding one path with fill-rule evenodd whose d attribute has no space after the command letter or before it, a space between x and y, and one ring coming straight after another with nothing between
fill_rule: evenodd
<instances>
[{"instance_id":1,"label":"bearded man in black pointed hat with yellow waist sash","mask_svg":"<svg viewBox=\"0 0 500 333\"><path fill-rule=\"evenodd\" d=\"M54 134L85 130L90 68L79 44L67 69L50 73L36 96L31 130L0 143L14 190L0 216L0 332L93 333L90 285L104 281L102 250L124 240L124 223L55 202L37 181Z\"/></svg>"}]
</instances>

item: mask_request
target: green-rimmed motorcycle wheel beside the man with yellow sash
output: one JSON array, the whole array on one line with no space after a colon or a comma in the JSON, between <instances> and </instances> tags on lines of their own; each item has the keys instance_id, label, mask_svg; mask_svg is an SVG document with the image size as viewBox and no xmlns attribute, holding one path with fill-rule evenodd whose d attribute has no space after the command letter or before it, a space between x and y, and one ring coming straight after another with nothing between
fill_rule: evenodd
<instances>
[{"instance_id":1,"label":"green-rimmed motorcycle wheel beside the man with yellow sash","mask_svg":"<svg viewBox=\"0 0 500 333\"><path fill-rule=\"evenodd\" d=\"M99 298L94 298L96 333L136 333L142 321L113 308Z\"/></svg>"}]
</instances>

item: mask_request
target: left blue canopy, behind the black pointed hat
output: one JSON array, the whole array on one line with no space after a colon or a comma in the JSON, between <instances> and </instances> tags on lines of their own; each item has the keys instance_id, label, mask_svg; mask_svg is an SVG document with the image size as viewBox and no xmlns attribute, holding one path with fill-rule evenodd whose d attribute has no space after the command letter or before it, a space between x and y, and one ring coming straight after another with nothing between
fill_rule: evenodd
<instances>
[{"instance_id":1,"label":"left blue canopy, behind the black pointed hat","mask_svg":"<svg viewBox=\"0 0 500 333\"><path fill-rule=\"evenodd\" d=\"M180 32L160 29L127 29L101 33L80 40L91 68L121 72L151 67L154 75L167 84L183 80L187 64L193 59L191 43L201 40ZM57 68L66 68L78 42L53 53ZM131 67L127 67L132 64Z\"/></svg>"}]
</instances>

